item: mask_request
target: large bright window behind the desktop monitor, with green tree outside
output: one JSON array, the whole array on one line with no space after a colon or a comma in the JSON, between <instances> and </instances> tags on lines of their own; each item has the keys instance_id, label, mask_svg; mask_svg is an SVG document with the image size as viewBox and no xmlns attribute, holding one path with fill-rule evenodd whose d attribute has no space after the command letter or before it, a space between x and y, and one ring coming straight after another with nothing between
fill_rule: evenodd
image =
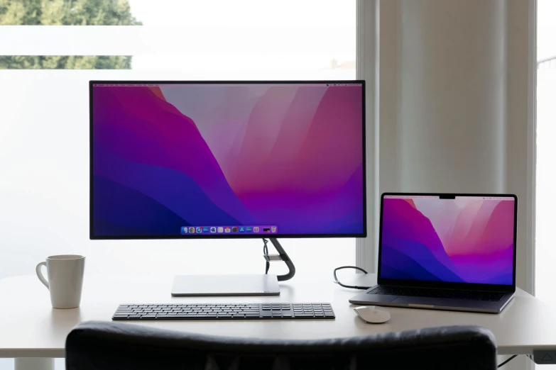
<instances>
[{"instance_id":1,"label":"large bright window behind the desktop monitor, with green tree outside","mask_svg":"<svg viewBox=\"0 0 556 370\"><path fill-rule=\"evenodd\" d=\"M88 240L87 82L354 79L355 0L0 4L0 278L60 252L85 254L89 272L263 271L260 240ZM283 246L299 274L355 262L352 239Z\"/></svg>"}]
</instances>

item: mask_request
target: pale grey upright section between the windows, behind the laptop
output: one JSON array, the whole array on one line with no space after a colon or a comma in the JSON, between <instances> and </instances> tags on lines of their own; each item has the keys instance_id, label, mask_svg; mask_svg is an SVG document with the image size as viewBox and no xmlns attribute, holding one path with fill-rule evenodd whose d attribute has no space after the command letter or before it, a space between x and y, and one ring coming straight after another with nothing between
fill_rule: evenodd
<instances>
[{"instance_id":1,"label":"pale grey upright section between the windows, behind the laptop","mask_svg":"<svg viewBox=\"0 0 556 370\"><path fill-rule=\"evenodd\" d=\"M532 292L535 1L361 0L358 12L371 99L358 264L376 266L384 191L513 193L517 284Z\"/></svg>"}]
</instances>

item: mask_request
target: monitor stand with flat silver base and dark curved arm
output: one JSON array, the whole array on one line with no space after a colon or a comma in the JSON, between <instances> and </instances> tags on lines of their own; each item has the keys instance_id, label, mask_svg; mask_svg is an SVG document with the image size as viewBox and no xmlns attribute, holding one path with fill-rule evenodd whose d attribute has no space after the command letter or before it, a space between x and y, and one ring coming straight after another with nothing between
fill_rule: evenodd
<instances>
[{"instance_id":1,"label":"monitor stand with flat silver base and dark curved arm","mask_svg":"<svg viewBox=\"0 0 556 370\"><path fill-rule=\"evenodd\" d=\"M288 274L252 275L179 275L172 285L172 296L278 296L278 281L285 281L295 275L295 266L276 238L270 238L278 254L265 254L267 262L283 261L288 266Z\"/></svg>"}]
</instances>

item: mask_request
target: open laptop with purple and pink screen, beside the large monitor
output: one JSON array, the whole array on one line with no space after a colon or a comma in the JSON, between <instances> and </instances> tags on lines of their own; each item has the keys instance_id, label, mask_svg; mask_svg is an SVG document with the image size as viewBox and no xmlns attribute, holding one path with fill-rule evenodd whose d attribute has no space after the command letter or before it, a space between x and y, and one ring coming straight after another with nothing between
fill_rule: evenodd
<instances>
[{"instance_id":1,"label":"open laptop with purple and pink screen, beside the large monitor","mask_svg":"<svg viewBox=\"0 0 556 370\"><path fill-rule=\"evenodd\" d=\"M516 291L511 194L381 196L376 286L350 303L499 313Z\"/></svg>"}]
</instances>

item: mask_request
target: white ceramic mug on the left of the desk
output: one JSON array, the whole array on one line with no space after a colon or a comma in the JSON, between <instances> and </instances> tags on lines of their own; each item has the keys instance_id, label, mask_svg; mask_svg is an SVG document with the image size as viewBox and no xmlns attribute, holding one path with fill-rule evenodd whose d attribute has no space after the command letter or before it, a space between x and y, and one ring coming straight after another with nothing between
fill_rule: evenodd
<instances>
[{"instance_id":1,"label":"white ceramic mug on the left of the desk","mask_svg":"<svg viewBox=\"0 0 556 370\"><path fill-rule=\"evenodd\" d=\"M40 271L45 266L48 281ZM53 308L76 308L81 302L85 257L74 254L50 256L36 268L40 282L50 291Z\"/></svg>"}]
</instances>

